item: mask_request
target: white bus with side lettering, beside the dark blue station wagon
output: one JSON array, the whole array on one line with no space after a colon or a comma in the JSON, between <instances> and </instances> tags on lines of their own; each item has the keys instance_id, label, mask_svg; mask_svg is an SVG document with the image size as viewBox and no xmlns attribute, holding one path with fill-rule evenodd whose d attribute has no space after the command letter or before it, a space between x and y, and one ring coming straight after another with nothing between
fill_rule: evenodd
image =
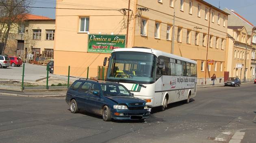
<instances>
[{"instance_id":1,"label":"white bus with side lettering, beside the dark blue station wagon","mask_svg":"<svg viewBox=\"0 0 256 143\"><path fill-rule=\"evenodd\" d=\"M197 68L191 59L159 50L119 48L111 53L106 80L123 84L149 107L165 110L169 103L195 97Z\"/></svg>"}]
</instances>

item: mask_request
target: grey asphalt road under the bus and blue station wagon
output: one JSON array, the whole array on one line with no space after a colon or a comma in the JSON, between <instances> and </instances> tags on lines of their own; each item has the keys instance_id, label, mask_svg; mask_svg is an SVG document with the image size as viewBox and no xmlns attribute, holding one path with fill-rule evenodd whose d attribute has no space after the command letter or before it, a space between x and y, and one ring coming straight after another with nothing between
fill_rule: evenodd
<instances>
[{"instance_id":1,"label":"grey asphalt road under the bus and blue station wagon","mask_svg":"<svg viewBox=\"0 0 256 143\"><path fill-rule=\"evenodd\" d=\"M1 143L214 143L245 132L255 143L256 85L200 88L189 103L153 109L146 122L104 122L84 111L72 114L64 98L0 96Z\"/></svg>"}]
</instances>

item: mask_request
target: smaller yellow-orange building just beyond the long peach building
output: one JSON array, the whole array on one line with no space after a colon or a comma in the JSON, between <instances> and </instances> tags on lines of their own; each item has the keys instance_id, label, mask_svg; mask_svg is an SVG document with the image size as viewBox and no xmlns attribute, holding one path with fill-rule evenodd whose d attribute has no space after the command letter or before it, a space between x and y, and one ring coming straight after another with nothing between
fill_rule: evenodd
<instances>
[{"instance_id":1,"label":"smaller yellow-orange building just beyond the long peach building","mask_svg":"<svg viewBox=\"0 0 256 143\"><path fill-rule=\"evenodd\" d=\"M237 77L242 81L251 77L251 50L250 35L244 26L228 26L226 65L225 71L229 77ZM246 41L246 39L248 39Z\"/></svg>"}]
</instances>

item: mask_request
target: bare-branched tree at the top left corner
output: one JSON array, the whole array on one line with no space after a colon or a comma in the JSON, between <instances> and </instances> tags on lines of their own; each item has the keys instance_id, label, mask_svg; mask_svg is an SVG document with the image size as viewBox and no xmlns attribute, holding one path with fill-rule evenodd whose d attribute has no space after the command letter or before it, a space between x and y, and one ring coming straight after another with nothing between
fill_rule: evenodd
<instances>
[{"instance_id":1,"label":"bare-branched tree at the top left corner","mask_svg":"<svg viewBox=\"0 0 256 143\"><path fill-rule=\"evenodd\" d=\"M3 44L1 54L7 45L11 32L15 32L19 23L22 23L28 13L31 0L0 0L0 43Z\"/></svg>"}]
</instances>

